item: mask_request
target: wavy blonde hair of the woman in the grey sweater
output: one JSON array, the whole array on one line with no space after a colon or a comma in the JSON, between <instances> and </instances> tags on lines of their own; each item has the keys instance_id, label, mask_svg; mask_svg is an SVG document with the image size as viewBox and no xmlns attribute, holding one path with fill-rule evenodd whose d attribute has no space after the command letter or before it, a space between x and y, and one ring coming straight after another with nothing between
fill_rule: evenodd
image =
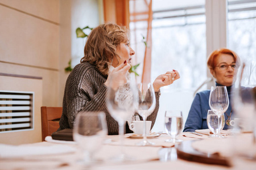
<instances>
[{"instance_id":1,"label":"wavy blonde hair of the woman in the grey sweater","mask_svg":"<svg viewBox=\"0 0 256 170\"><path fill-rule=\"evenodd\" d=\"M113 58L117 60L121 58L117 54L117 48L121 42L129 40L129 33L129 29L116 24L98 25L88 36L84 47L84 57L80 62L89 62L96 65L102 74L108 74Z\"/></svg>"}]
</instances>

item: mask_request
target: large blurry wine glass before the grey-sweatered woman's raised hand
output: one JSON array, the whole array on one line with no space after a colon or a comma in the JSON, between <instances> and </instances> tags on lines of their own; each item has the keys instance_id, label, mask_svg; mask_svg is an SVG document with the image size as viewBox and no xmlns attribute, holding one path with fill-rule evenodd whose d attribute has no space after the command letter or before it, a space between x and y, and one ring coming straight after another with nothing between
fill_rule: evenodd
<instances>
[{"instance_id":1,"label":"large blurry wine glass before the grey-sweatered woman's raised hand","mask_svg":"<svg viewBox=\"0 0 256 170\"><path fill-rule=\"evenodd\" d=\"M109 113L118 122L121 146L121 153L112 160L114 162L124 162L134 159L123 152L123 134L126 121L134 115L134 112L137 109L138 91L135 83L135 75L133 73L127 75L127 82L125 82L125 84L115 84L118 86L115 90L112 88L112 83L116 82L110 79L106 104Z\"/></svg>"}]
</instances>

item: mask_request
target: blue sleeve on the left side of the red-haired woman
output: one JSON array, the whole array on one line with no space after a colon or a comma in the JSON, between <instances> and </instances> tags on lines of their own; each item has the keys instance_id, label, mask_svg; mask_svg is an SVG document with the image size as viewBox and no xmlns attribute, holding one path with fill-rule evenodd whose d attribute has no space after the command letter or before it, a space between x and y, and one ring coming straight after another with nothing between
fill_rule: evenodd
<instances>
[{"instance_id":1,"label":"blue sleeve on the left side of the red-haired woman","mask_svg":"<svg viewBox=\"0 0 256 170\"><path fill-rule=\"evenodd\" d=\"M195 131L202 127L202 113L200 95L196 94L188 113L188 118L183 131Z\"/></svg>"}]
</instances>

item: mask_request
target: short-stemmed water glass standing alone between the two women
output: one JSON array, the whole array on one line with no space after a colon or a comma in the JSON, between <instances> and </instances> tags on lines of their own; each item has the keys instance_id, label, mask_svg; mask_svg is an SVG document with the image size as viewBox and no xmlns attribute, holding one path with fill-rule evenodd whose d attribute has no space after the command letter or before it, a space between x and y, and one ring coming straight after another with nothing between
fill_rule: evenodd
<instances>
[{"instance_id":1,"label":"short-stemmed water glass standing alone between the two women","mask_svg":"<svg viewBox=\"0 0 256 170\"><path fill-rule=\"evenodd\" d=\"M164 125L168 135L170 135L171 139L167 139L166 142L181 142L180 139L176 139L176 137L181 133L183 118L181 111L166 111L164 116Z\"/></svg>"}]
</instances>

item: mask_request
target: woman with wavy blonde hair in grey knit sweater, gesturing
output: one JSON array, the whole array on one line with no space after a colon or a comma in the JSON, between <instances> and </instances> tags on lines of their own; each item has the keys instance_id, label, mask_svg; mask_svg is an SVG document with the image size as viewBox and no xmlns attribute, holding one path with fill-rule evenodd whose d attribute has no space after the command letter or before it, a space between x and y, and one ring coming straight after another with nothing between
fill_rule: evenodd
<instances>
[{"instance_id":1,"label":"woman with wavy blonde hair in grey knit sweater, gesturing","mask_svg":"<svg viewBox=\"0 0 256 170\"><path fill-rule=\"evenodd\" d=\"M65 84L63 114L57 131L73 129L76 114L80 111L103 111L106 114L108 134L118 134L118 123L106 107L106 90L110 86L110 78L117 84L126 79L134 54L129 44L129 29L111 23L94 28L86 41L84 57L69 74ZM172 79L175 74L175 79ZM147 118L152 121L152 126L159 109L160 87L172 84L179 78L177 71L168 71L155 79L156 107ZM127 125L126 133L131 133Z\"/></svg>"}]
</instances>

